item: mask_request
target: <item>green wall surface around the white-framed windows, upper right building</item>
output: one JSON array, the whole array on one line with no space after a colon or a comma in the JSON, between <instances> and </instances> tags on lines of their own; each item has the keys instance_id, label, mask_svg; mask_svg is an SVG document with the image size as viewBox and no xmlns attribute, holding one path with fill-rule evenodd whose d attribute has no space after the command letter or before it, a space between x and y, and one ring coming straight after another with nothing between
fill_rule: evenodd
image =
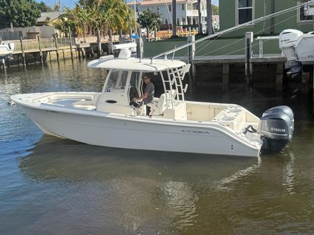
<instances>
[{"instance_id":1,"label":"green wall surface around the white-framed windows, upper right building","mask_svg":"<svg viewBox=\"0 0 314 235\"><path fill-rule=\"evenodd\" d=\"M219 1L219 14L220 14L220 30L228 29L236 25L236 3L238 0L220 0ZM260 18L264 15L271 14L271 4L274 1L274 12L285 10L297 5L297 0L253 0L255 9L255 19ZM266 3L264 5L264 3ZM265 13L264 14L264 10ZM284 29L298 29L303 32L313 31L313 22L300 22L299 10L292 10L289 13L280 15L274 18L274 35L278 35ZM232 33L227 33L224 37L239 37L244 36L246 31L253 31L255 34L259 35L269 35L271 34L271 20L265 20L254 24L252 26L247 26L244 29L239 29Z\"/></svg>"}]
</instances>

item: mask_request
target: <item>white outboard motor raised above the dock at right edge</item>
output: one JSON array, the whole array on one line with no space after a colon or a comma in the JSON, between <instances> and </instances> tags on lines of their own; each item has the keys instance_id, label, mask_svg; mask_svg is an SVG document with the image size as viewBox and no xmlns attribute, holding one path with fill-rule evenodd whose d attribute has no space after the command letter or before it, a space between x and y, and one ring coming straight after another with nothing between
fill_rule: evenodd
<instances>
[{"instance_id":1,"label":"white outboard motor raised above the dock at right edge","mask_svg":"<svg viewBox=\"0 0 314 235\"><path fill-rule=\"evenodd\" d=\"M279 47L287 62L287 74L297 75L302 66L314 64L314 32L302 33L296 29L285 29L279 35Z\"/></svg>"}]
</instances>

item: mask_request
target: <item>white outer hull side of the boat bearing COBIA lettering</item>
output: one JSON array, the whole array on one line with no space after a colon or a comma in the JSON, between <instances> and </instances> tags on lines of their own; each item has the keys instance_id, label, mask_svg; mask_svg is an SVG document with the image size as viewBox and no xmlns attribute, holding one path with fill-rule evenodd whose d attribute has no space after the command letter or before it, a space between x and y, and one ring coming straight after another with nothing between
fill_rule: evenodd
<instances>
[{"instance_id":1,"label":"white outer hull side of the boat bearing COBIA lettering","mask_svg":"<svg viewBox=\"0 0 314 235\"><path fill-rule=\"evenodd\" d=\"M252 156L260 146L246 144L211 126L98 112L77 114L23 106L26 114L46 134L77 142L124 149L146 149L213 155Z\"/></svg>"}]
</instances>

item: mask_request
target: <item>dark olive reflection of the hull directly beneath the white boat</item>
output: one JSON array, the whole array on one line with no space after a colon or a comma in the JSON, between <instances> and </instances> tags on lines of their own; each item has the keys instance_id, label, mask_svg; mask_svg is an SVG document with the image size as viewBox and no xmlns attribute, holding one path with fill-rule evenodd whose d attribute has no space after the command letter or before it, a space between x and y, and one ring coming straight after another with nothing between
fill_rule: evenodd
<instances>
[{"instance_id":1,"label":"dark olive reflection of the hull directly beneath the white boat","mask_svg":"<svg viewBox=\"0 0 314 235\"><path fill-rule=\"evenodd\" d=\"M126 164L128 162L129 164ZM171 172L172 179L181 175L201 174L210 179L229 176L237 169L255 164L251 158L204 156L195 153L126 150L102 146L90 146L69 139L43 135L29 155L21 158L20 169L34 179L60 179L82 176L89 179L94 172L101 172L103 179L137 174L149 168L149 177L163 176ZM225 169L225 170L224 170Z\"/></svg>"}]
</instances>

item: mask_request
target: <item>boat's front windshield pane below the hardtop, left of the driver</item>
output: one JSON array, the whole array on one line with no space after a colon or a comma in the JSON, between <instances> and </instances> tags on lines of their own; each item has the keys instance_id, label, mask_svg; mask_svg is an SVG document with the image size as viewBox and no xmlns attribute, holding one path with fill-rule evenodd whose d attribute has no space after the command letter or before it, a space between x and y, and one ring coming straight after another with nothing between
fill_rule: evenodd
<instances>
[{"instance_id":1,"label":"boat's front windshield pane below the hardtop, left of the driver","mask_svg":"<svg viewBox=\"0 0 314 235\"><path fill-rule=\"evenodd\" d=\"M105 92L124 92L128 71L112 70L105 86Z\"/></svg>"}]
</instances>

